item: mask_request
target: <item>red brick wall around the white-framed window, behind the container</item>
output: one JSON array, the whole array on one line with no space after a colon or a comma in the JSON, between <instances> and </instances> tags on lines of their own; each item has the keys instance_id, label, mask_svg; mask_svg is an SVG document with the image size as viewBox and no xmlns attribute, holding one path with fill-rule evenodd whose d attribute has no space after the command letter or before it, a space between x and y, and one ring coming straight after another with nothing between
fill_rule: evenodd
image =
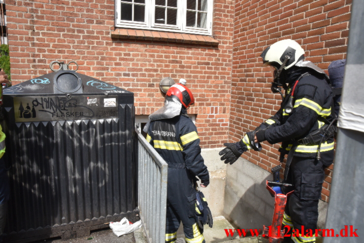
<instances>
[{"instance_id":1,"label":"red brick wall around the white-framed window, behind the container","mask_svg":"<svg viewBox=\"0 0 364 243\"><path fill-rule=\"evenodd\" d=\"M78 72L135 94L136 114L163 106L159 82L187 80L195 94L196 124L204 148L228 139L234 2L216 0L213 37L218 47L111 38L113 0L5 0L14 84L48 73L51 61L78 63ZM214 106L211 108L210 106Z\"/></svg>"}]
</instances>

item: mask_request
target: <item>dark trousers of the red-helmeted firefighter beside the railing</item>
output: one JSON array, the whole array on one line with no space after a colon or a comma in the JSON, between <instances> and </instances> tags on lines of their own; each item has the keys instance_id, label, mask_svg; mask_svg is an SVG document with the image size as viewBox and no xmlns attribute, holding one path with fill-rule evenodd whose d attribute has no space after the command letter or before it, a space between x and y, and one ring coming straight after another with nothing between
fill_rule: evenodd
<instances>
[{"instance_id":1,"label":"dark trousers of the red-helmeted firefighter beside the railing","mask_svg":"<svg viewBox=\"0 0 364 243\"><path fill-rule=\"evenodd\" d=\"M196 194L194 176L187 169L170 167L173 166L168 165L165 243L176 241L181 221L187 243L205 243L195 219L196 201L192 200Z\"/></svg>"}]
</instances>

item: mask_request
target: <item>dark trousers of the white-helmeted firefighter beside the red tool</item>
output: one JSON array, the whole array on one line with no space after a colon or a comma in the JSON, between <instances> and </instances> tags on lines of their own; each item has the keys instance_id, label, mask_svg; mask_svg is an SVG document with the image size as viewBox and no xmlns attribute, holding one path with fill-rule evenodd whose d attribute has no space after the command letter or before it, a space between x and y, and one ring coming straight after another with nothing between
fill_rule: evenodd
<instances>
[{"instance_id":1,"label":"dark trousers of the white-helmeted firefighter beside the red tool","mask_svg":"<svg viewBox=\"0 0 364 243\"><path fill-rule=\"evenodd\" d=\"M294 185L294 192L288 197L283 226L289 225L291 232L292 229L298 229L300 233L303 226L306 235L292 234L291 242L315 243L315 229L319 216L318 204L325 177L324 168L323 163L316 159L295 156L292 160L286 182ZM285 193L291 190L292 188L284 189ZM312 237L307 235L309 230L312 230Z\"/></svg>"}]
</instances>

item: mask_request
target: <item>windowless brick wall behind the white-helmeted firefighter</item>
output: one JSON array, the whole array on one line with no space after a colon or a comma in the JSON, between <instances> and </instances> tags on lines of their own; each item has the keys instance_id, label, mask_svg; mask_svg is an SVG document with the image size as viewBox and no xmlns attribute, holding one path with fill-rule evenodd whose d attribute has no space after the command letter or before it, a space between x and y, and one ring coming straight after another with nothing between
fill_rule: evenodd
<instances>
[{"instance_id":1,"label":"windowless brick wall behind the white-helmeted firefighter","mask_svg":"<svg viewBox=\"0 0 364 243\"><path fill-rule=\"evenodd\" d=\"M346 58L351 0L237 0L235 5L232 99L229 139L241 139L279 109L281 97L270 91L271 73L259 57L265 47L294 39L306 60L322 69ZM261 152L244 153L270 171L279 164L279 144L263 142ZM322 199L329 200L333 166L326 170Z\"/></svg>"}]
</instances>

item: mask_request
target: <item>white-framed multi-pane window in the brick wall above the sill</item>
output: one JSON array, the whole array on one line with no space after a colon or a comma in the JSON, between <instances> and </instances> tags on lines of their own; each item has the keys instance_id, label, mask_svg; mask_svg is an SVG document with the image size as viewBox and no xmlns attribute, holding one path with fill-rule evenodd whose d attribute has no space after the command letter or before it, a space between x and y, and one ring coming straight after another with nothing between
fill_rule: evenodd
<instances>
[{"instance_id":1,"label":"white-framed multi-pane window in the brick wall above the sill","mask_svg":"<svg viewBox=\"0 0 364 243\"><path fill-rule=\"evenodd\" d=\"M213 0L115 0L115 26L212 35Z\"/></svg>"}]
</instances>

